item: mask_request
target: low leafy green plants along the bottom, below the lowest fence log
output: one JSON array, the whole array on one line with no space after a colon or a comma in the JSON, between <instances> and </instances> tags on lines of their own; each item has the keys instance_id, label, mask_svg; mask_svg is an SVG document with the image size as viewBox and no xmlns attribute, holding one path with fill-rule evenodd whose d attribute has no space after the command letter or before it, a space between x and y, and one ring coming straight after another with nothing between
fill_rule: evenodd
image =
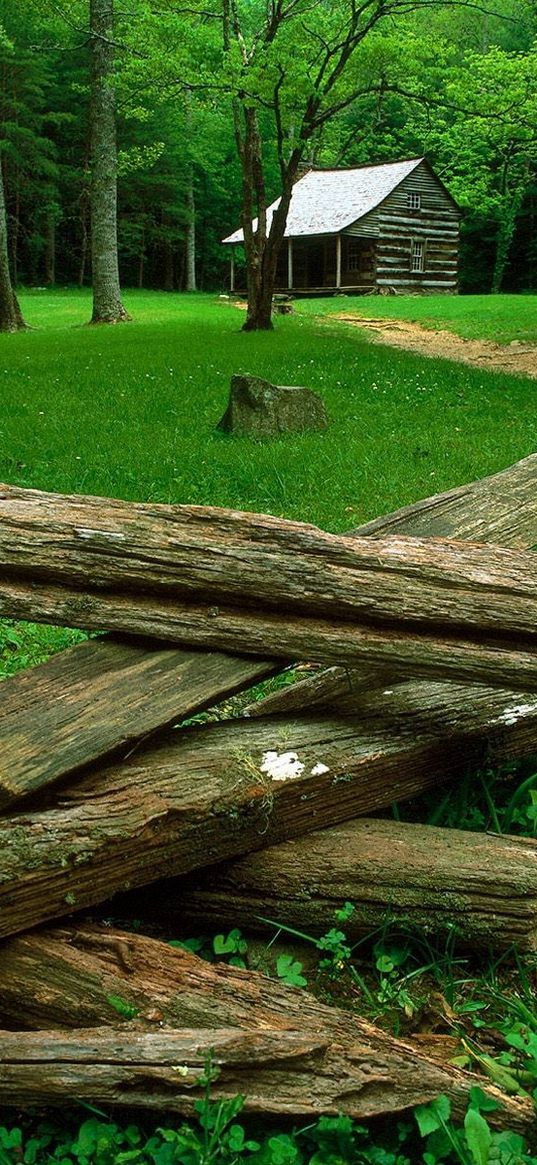
<instances>
[{"instance_id":1,"label":"low leafy green plants along the bottom, below the lowest fence log","mask_svg":"<svg viewBox=\"0 0 537 1165\"><path fill-rule=\"evenodd\" d=\"M416 1109L416 1127L404 1121L366 1127L348 1116L322 1116L303 1129L276 1131L241 1117L243 1097L213 1101L218 1069L209 1062L205 1095L196 1120L146 1128L90 1116L80 1125L37 1120L24 1135L0 1125L0 1165L536 1165L515 1132L493 1131L494 1109L480 1088L471 1089L464 1123L439 1096Z\"/></svg>"}]
</instances>

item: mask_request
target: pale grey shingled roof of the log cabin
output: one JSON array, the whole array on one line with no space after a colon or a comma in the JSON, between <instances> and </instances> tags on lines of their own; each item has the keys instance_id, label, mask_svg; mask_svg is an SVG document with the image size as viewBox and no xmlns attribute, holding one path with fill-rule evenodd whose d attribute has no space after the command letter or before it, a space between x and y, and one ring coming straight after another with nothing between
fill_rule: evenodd
<instances>
[{"instance_id":1,"label":"pale grey shingled roof of the log cabin","mask_svg":"<svg viewBox=\"0 0 537 1165\"><path fill-rule=\"evenodd\" d=\"M292 188L285 239L345 231L379 206L423 161L423 157L412 157L405 162L348 170L309 170ZM280 198L268 207L267 228L278 205ZM254 219L254 230L256 225ZM241 228L222 242L243 242L243 238Z\"/></svg>"}]
</instances>

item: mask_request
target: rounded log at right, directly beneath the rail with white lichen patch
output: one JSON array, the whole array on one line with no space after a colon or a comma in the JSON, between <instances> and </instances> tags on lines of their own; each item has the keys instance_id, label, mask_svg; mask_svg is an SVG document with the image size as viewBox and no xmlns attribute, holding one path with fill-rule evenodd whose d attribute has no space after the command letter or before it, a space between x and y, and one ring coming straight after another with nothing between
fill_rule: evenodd
<instances>
[{"instance_id":1,"label":"rounded log at right, directly beneath the rail with white lichen patch","mask_svg":"<svg viewBox=\"0 0 537 1165\"><path fill-rule=\"evenodd\" d=\"M387 923L457 937L473 948L537 947L537 842L362 819L271 846L142 894L139 917L167 925L266 930L261 919L324 934L334 911L355 940ZM162 909L162 908L161 908Z\"/></svg>"}]
</instances>

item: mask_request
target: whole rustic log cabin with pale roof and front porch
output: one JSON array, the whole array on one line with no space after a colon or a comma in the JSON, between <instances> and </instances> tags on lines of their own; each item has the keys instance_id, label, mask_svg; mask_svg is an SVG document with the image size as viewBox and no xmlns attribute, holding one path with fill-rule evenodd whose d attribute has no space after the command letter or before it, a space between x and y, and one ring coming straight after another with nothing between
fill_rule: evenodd
<instances>
[{"instance_id":1,"label":"whole rustic log cabin with pale roof and front porch","mask_svg":"<svg viewBox=\"0 0 537 1165\"><path fill-rule=\"evenodd\" d=\"M267 211L268 226L278 199ZM294 186L276 291L294 295L458 290L460 211L424 157L310 169ZM242 230L222 240L235 249Z\"/></svg>"}]
</instances>

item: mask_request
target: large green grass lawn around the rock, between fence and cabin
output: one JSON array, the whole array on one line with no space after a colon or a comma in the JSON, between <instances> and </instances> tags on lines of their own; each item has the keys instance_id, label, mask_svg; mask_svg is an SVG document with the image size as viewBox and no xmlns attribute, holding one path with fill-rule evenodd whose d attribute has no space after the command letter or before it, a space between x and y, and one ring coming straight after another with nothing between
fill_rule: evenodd
<instances>
[{"instance_id":1,"label":"large green grass lawn around the rock, between fence and cabin","mask_svg":"<svg viewBox=\"0 0 537 1165\"><path fill-rule=\"evenodd\" d=\"M21 301L35 330L0 337L7 482L231 506L337 531L536 447L531 381L369 345L319 323L318 301L264 334L242 333L241 313L211 296L130 292L133 323L97 329L84 326L85 292ZM375 312L391 304L375 299ZM396 302L409 304L432 301ZM316 389L330 429L261 443L218 433L236 372Z\"/></svg>"}]
</instances>

